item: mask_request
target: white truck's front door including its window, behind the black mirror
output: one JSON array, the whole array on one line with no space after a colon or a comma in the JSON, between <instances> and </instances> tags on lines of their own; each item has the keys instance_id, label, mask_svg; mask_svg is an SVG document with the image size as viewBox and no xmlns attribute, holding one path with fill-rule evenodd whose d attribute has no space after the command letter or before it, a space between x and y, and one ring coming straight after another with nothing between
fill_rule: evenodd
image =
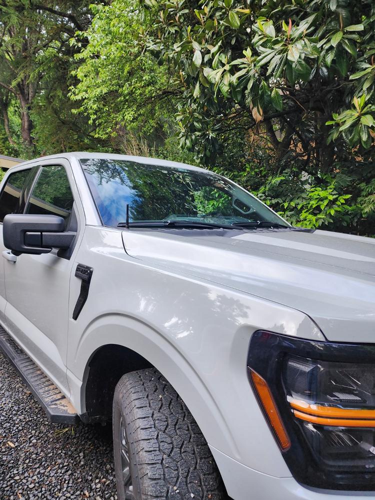
<instances>
[{"instance_id":1,"label":"white truck's front door including its window, behind the black mirror","mask_svg":"<svg viewBox=\"0 0 375 500\"><path fill-rule=\"evenodd\" d=\"M15 263L3 259L8 331L68 395L69 281L84 216L67 160L42 162L23 212L59 215L65 220L65 229L77 233L69 251L52 249L41 255L21 254Z\"/></svg>"}]
</instances>

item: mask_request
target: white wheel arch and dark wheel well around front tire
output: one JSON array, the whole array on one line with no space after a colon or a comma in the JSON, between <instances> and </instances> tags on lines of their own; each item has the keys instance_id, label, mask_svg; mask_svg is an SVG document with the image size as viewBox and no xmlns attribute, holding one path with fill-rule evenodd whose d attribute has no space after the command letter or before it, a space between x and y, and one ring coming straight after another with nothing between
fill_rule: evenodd
<instances>
[{"instance_id":1,"label":"white wheel arch and dark wheel well around front tire","mask_svg":"<svg viewBox=\"0 0 375 500\"><path fill-rule=\"evenodd\" d=\"M90 355L82 362L87 352ZM221 441L224 448L236 449L230 428L197 371L169 339L142 321L122 314L97 318L78 342L74 364L84 366L76 374L82 380L83 421L107 420L109 400L124 373L155 367L184 400L207 442ZM112 367L113 376L108 377Z\"/></svg>"}]
</instances>

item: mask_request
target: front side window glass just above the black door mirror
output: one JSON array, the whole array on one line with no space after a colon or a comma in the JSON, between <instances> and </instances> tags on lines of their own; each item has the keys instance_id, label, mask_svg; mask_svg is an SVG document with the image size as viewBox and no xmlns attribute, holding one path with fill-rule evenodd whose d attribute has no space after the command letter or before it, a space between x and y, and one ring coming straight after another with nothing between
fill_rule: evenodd
<instances>
[{"instance_id":1,"label":"front side window glass just above the black door mirror","mask_svg":"<svg viewBox=\"0 0 375 500\"><path fill-rule=\"evenodd\" d=\"M73 195L65 168L61 165L43 166L31 191L25 213L59 215L66 221L72 206Z\"/></svg>"}]
</instances>

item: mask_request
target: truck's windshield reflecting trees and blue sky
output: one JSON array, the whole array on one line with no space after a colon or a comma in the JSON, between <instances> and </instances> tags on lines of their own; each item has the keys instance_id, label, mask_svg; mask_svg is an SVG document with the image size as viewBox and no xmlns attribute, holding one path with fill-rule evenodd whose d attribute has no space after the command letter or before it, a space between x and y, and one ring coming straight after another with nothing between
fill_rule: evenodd
<instances>
[{"instance_id":1,"label":"truck's windshield reflecting trees and blue sky","mask_svg":"<svg viewBox=\"0 0 375 500\"><path fill-rule=\"evenodd\" d=\"M270 222L287 226L250 193L213 172L129 160L81 159L104 225L191 222L214 225Z\"/></svg>"}]
</instances>

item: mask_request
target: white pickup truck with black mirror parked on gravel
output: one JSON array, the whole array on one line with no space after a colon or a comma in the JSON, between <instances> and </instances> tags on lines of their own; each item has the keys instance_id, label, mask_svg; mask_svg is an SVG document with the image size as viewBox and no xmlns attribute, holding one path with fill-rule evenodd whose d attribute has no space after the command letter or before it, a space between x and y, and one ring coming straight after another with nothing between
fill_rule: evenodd
<instances>
[{"instance_id":1,"label":"white pickup truck with black mirror parked on gravel","mask_svg":"<svg viewBox=\"0 0 375 500\"><path fill-rule=\"evenodd\" d=\"M120 500L375 495L375 239L201 168L68 153L1 183L0 347L112 422Z\"/></svg>"}]
</instances>

